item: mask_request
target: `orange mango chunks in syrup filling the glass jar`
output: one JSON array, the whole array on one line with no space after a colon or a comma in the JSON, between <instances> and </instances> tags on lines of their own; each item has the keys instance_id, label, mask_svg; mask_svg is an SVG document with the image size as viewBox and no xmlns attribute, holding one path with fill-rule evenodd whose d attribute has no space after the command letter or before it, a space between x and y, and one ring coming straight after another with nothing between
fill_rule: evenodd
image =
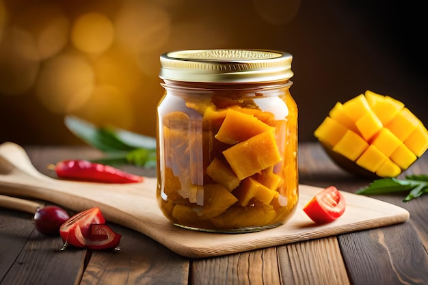
<instances>
[{"instance_id":1,"label":"orange mango chunks in syrup filling the glass jar","mask_svg":"<svg viewBox=\"0 0 428 285\"><path fill-rule=\"evenodd\" d=\"M174 223L194 228L282 223L298 200L297 172L288 170L297 169L295 103L287 103L289 116L284 120L257 108L197 105L186 104L200 113L200 124L191 124L180 111L163 118L161 135L172 149L165 154L167 171L160 177L168 189L158 189L163 213ZM201 129L201 135L195 135ZM195 144L209 147L202 150Z\"/></svg>"}]
</instances>

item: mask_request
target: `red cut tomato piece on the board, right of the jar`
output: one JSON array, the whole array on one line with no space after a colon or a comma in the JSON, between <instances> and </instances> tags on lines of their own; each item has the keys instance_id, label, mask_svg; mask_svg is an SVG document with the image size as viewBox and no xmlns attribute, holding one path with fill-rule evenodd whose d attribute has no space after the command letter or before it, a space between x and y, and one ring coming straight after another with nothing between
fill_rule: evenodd
<instances>
[{"instance_id":1,"label":"red cut tomato piece on the board, right of the jar","mask_svg":"<svg viewBox=\"0 0 428 285\"><path fill-rule=\"evenodd\" d=\"M303 211L315 223L330 223L345 212L345 198L334 186L327 187L317 193Z\"/></svg>"}]
</instances>

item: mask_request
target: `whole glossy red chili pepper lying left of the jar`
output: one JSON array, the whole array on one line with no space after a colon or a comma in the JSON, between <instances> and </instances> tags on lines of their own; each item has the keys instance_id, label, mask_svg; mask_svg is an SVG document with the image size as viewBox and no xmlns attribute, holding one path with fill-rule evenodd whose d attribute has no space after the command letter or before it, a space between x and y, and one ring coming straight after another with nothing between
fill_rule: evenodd
<instances>
[{"instance_id":1,"label":"whole glossy red chili pepper lying left of the jar","mask_svg":"<svg viewBox=\"0 0 428 285\"><path fill-rule=\"evenodd\" d=\"M124 172L110 165L92 163L81 159L59 161L53 169L59 178L104 183L142 182L143 177Z\"/></svg>"}]
</instances>

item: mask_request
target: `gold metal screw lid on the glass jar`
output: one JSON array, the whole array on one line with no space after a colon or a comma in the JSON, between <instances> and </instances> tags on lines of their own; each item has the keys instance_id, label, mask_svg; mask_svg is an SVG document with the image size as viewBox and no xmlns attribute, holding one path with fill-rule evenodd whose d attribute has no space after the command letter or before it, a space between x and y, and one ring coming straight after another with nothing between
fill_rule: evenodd
<instances>
[{"instance_id":1,"label":"gold metal screw lid on the glass jar","mask_svg":"<svg viewBox=\"0 0 428 285\"><path fill-rule=\"evenodd\" d=\"M293 77L293 56L283 51L210 49L161 55L161 79L207 83L256 83Z\"/></svg>"}]
</instances>

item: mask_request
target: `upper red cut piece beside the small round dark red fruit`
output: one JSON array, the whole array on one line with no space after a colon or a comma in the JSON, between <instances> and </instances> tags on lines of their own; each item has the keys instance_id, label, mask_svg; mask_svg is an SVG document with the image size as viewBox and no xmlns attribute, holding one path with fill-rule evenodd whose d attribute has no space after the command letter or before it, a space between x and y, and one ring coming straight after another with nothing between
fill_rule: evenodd
<instances>
[{"instance_id":1,"label":"upper red cut piece beside the small round dark red fruit","mask_svg":"<svg viewBox=\"0 0 428 285\"><path fill-rule=\"evenodd\" d=\"M91 234L90 226L94 223L105 223L103 213L101 213L101 210L98 207L81 211L70 217L70 219L65 221L59 228L59 234L64 242L68 241L68 243L70 243L70 230L79 227L81 234L88 237Z\"/></svg>"}]
</instances>

